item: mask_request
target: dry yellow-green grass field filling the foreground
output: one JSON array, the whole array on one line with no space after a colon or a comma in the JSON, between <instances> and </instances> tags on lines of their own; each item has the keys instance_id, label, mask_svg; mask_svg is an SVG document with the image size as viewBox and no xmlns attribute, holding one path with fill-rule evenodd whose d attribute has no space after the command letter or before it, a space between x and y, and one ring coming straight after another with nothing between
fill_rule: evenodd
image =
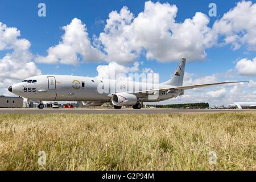
<instances>
[{"instance_id":1,"label":"dry yellow-green grass field filling the foreground","mask_svg":"<svg viewBox=\"0 0 256 182\"><path fill-rule=\"evenodd\" d=\"M256 113L0 114L0 169L255 170L255 127Z\"/></svg>"}]
</instances>

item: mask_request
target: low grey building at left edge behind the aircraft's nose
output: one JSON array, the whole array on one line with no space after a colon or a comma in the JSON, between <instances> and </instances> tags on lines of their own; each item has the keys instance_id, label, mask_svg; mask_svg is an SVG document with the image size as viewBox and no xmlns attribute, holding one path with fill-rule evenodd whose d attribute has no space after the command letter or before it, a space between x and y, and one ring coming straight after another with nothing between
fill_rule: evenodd
<instances>
[{"instance_id":1,"label":"low grey building at left edge behind the aircraft's nose","mask_svg":"<svg viewBox=\"0 0 256 182\"><path fill-rule=\"evenodd\" d=\"M0 96L0 107L23 107L23 98Z\"/></svg>"}]
</instances>

